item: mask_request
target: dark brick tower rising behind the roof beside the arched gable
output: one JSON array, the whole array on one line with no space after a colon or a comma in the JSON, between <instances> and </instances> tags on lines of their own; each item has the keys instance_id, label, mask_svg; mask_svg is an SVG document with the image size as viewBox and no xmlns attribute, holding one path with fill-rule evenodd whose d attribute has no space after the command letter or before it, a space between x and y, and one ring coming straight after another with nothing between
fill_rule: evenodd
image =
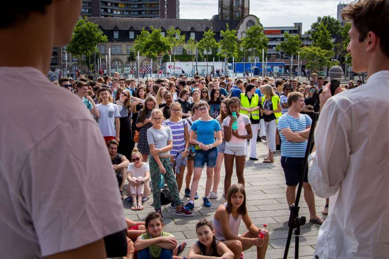
<instances>
[{"instance_id":1,"label":"dark brick tower rising behind the roof beside the arched gable","mask_svg":"<svg viewBox=\"0 0 389 259\"><path fill-rule=\"evenodd\" d=\"M220 20L240 20L250 14L250 0L219 0Z\"/></svg>"}]
</instances>

